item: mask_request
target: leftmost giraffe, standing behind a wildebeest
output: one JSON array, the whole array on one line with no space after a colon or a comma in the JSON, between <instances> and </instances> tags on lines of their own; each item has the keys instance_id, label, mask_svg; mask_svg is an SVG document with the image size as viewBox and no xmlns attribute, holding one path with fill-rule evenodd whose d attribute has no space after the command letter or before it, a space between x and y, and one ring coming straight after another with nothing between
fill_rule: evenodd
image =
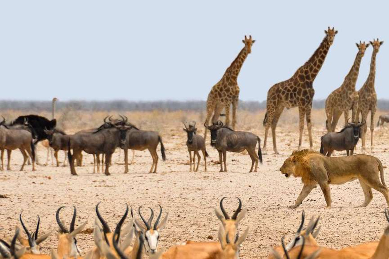
<instances>
[{"instance_id":1,"label":"leftmost giraffe, standing behind a wildebeest","mask_svg":"<svg viewBox=\"0 0 389 259\"><path fill-rule=\"evenodd\" d=\"M243 62L247 56L251 53L251 46L255 40L251 35L249 38L245 35L245 39L242 40L245 47L239 52L238 57L232 61L231 65L225 71L223 77L218 81L211 89L207 99L207 118L204 126L206 127L204 133L204 139L207 137L207 126L209 119L213 113L212 123L216 123L219 119L220 112L225 109L225 124L229 125L229 109L232 104L232 128L235 128L237 123L237 106L239 100L239 86L238 75L241 71Z\"/></svg>"}]
</instances>

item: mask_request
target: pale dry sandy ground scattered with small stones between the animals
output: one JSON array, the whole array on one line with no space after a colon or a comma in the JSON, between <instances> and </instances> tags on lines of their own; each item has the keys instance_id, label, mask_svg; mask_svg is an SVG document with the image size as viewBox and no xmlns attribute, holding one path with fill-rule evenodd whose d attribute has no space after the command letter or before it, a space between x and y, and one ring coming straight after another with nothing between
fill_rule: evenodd
<instances>
[{"instance_id":1,"label":"pale dry sandy ground scattered with small stones between the animals","mask_svg":"<svg viewBox=\"0 0 389 259\"><path fill-rule=\"evenodd\" d=\"M241 258L264 258L268 255L269 247L279 244L282 236L286 236L288 240L298 227L302 210L305 210L308 218L321 215L322 229L318 237L321 245L340 248L378 240L387 226L383 214L386 207L384 198L373 190L374 198L370 205L366 208L358 207L364 199L358 181L331 186L331 209L325 209L320 188L315 189L299 208L288 208L296 200L302 184L299 179L286 179L279 171L285 158L297 147L298 141L296 112L285 113L282 117L284 122L280 124L277 132L281 155L273 154L270 138L268 154L263 156L263 165L259 166L258 172L253 173L248 172L251 160L244 153L228 153L228 172L219 172L219 165L215 163L218 160L217 151L209 145L208 172L203 171L203 161L199 172L189 172L186 134L182 131L180 120L195 115L185 113L175 114L175 117L181 116L176 122L158 126L168 159L165 163L160 159L158 174L147 173L151 166L148 151L136 152L129 174L123 174L123 152L116 151L114 164L110 168L112 175L109 177L101 173L92 174L91 155L84 156L85 166L76 167L79 174L76 177L70 176L69 168L62 166L37 166L37 171L34 172L31 171L31 166L26 166L24 171L18 171L22 158L19 151L14 151L13 170L0 172L0 194L6 196L0 198L0 229L3 228L0 235L12 235L15 226L20 225L18 215L21 211L31 231L37 214L41 217L41 233L57 230L55 211L62 205L75 205L78 211L77 225L88 220L88 228L92 228L95 205L101 202L101 212L112 229L124 213L125 203L134 208L140 205L151 206L154 210L158 210L158 204L161 204L164 215L169 212L168 224L161 233L161 248L186 240L215 241L220 222L215 216L214 208L218 206L221 197L227 196L225 207L232 214L238 205L235 198L237 196L242 199L243 205L248 207L240 229L250 227L248 238L241 248ZM319 150L320 136L325 132L323 115L323 111L314 114L316 150ZM258 134L263 143L263 113L240 113L240 116L238 126ZM137 117L137 122L141 117ZM174 120L169 115L160 119ZM288 119L292 121L290 124L285 123ZM142 128L150 128L147 127L150 124L144 123ZM202 126L199 126L199 131L203 134ZM374 155L381 159L384 166L389 163L386 154L388 136L389 131L376 128ZM207 143L209 144L209 139ZM306 132L303 143L304 147L308 146ZM370 141L367 143L370 147ZM358 148L357 153L360 152L361 149ZM159 148L158 153L160 155ZM43 147L38 149L38 155L41 161L46 160L46 150ZM63 159L62 152L60 159ZM387 169L385 178L388 182ZM71 208L62 211L62 218L67 223L70 223L71 212ZM145 210L144 213L148 215L148 211ZM92 238L92 234L79 236L78 244L84 252L94 245ZM56 241L56 234L52 234L43 245L44 251L49 252L51 247L56 247Z\"/></svg>"}]
</instances>

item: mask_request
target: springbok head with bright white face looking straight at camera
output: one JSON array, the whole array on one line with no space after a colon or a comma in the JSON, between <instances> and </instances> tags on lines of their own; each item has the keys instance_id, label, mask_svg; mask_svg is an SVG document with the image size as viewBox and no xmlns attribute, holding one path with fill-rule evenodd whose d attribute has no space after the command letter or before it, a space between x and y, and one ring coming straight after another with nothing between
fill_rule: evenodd
<instances>
[{"instance_id":1,"label":"springbok head with bright white face looking straight at camera","mask_svg":"<svg viewBox=\"0 0 389 259\"><path fill-rule=\"evenodd\" d=\"M165 218L162 221L160 221L161 215L162 215L162 207L161 207L161 205L158 205L158 206L160 207L160 214L158 215L158 218L154 222L153 226L151 226L152 220L154 218L154 211L152 210L152 208L149 208L151 211L151 214L150 214L150 218L148 219L148 221L146 221L143 218L143 216L140 212L142 206L140 206L138 209L139 216L142 219L144 226L140 221L138 221L138 219L136 219L134 217L134 212L131 209L131 215L134 218L135 225L142 231L143 235L145 236L146 240L144 242L144 248L146 249L146 253L148 253L148 254L149 253L153 254L153 253L156 253L158 251L158 242L159 242L159 238L160 238L160 232L163 230L163 228L165 227L165 225L168 221L169 213L166 213Z\"/></svg>"}]
</instances>

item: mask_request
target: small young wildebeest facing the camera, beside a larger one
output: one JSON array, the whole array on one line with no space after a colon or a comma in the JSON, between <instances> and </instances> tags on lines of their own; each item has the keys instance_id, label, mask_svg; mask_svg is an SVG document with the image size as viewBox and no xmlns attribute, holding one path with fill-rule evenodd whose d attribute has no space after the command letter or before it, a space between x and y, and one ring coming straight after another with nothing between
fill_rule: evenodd
<instances>
[{"instance_id":1,"label":"small young wildebeest facing the camera, beside a larger one","mask_svg":"<svg viewBox=\"0 0 389 259\"><path fill-rule=\"evenodd\" d=\"M208 157L208 153L205 149L205 141L204 141L204 138L200 135L197 135L196 132L197 132L197 128L196 128L196 122L195 121L192 121L192 122L189 122L189 125L186 126L187 123L184 122L184 132L187 133L188 135L188 139L186 141L186 146L188 147L188 152L189 152L189 166L190 166L190 169L189 171L191 172L192 171L192 161L193 161L193 171L197 172L199 170L199 165L200 165L200 154L199 154L199 151L201 150L203 152L203 156L204 156L204 162L205 162L205 169L204 171L207 171L207 157ZM192 160L192 151L193 151L193 160ZM196 155L197 155L197 167L195 169L195 166L196 166L196 162L195 162L195 158L196 158Z\"/></svg>"}]
</instances>

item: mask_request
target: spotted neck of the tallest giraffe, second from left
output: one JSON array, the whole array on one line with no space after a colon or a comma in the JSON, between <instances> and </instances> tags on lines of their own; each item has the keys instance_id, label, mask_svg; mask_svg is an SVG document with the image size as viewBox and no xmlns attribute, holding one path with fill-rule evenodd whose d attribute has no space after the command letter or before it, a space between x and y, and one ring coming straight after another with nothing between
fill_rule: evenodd
<instances>
[{"instance_id":1,"label":"spotted neck of the tallest giraffe, second from left","mask_svg":"<svg viewBox=\"0 0 389 259\"><path fill-rule=\"evenodd\" d=\"M330 44L327 39L328 36L325 36L323 41L321 42L319 48L315 51L314 55L308 59L307 62L301 67L303 71L297 71L296 74L304 74L305 80L309 82L313 82L318 75L324 60L328 54L330 49Z\"/></svg>"}]
</instances>

